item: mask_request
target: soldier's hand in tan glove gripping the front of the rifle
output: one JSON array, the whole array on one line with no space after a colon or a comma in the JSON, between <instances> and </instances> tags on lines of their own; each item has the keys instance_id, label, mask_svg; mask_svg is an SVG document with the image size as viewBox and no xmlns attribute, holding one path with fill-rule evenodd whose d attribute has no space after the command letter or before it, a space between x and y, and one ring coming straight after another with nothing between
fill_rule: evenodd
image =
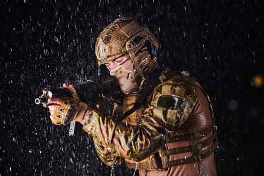
<instances>
[{"instance_id":1,"label":"soldier's hand in tan glove gripping the front of the rifle","mask_svg":"<svg viewBox=\"0 0 264 176\"><path fill-rule=\"evenodd\" d=\"M81 120L84 117L87 104L80 101L76 90L71 84L63 84L63 87L70 91L70 97L67 98L51 98L48 103L50 111L50 119L55 125L66 125L74 120Z\"/></svg>"}]
</instances>

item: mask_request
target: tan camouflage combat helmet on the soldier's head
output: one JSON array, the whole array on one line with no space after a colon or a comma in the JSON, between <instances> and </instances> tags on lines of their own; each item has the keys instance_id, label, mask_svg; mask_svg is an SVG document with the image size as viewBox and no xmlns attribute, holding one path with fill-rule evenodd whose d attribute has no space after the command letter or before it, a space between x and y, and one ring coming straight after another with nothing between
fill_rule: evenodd
<instances>
[{"instance_id":1,"label":"tan camouflage combat helmet on the soldier's head","mask_svg":"<svg viewBox=\"0 0 264 176\"><path fill-rule=\"evenodd\" d=\"M126 53L133 57L146 41L155 49L158 48L158 41L145 25L132 18L116 19L97 38L98 64L107 63Z\"/></svg>"}]
</instances>

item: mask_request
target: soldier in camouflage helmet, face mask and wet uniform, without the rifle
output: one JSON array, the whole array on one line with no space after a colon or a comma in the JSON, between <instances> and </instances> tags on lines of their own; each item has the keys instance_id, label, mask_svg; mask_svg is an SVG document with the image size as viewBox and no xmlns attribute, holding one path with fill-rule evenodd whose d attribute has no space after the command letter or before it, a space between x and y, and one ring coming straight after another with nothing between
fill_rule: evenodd
<instances>
[{"instance_id":1,"label":"soldier in camouflage helmet, face mask and wet uniform, without the rifle","mask_svg":"<svg viewBox=\"0 0 264 176\"><path fill-rule=\"evenodd\" d=\"M98 64L106 65L121 91L118 98L108 95L115 102L111 116L104 101L92 110L72 85L63 84L72 97L49 99L54 104L50 118L54 124L83 124L109 166L125 161L140 175L217 175L210 100L188 72L161 70L157 49L145 25L131 18L115 20L96 42Z\"/></svg>"}]
</instances>

